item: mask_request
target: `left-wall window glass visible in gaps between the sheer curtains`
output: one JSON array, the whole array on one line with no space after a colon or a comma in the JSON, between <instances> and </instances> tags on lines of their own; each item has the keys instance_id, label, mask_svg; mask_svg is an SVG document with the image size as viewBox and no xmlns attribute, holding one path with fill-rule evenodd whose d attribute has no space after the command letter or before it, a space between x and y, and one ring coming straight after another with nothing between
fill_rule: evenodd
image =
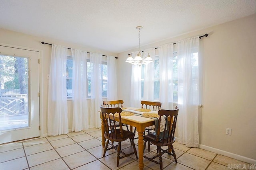
<instances>
[{"instance_id":1,"label":"left-wall window glass visible in gaps between the sheer curtains","mask_svg":"<svg viewBox=\"0 0 256 170\"><path fill-rule=\"evenodd\" d=\"M87 98L91 97L91 68L92 63L90 60L87 60ZM67 97L72 98L72 74L73 72L73 60L72 57L67 57L67 68L66 68L66 82L67 82ZM101 76L100 79L102 80L102 97L107 97L107 63L102 62L101 64Z\"/></svg>"}]
</instances>

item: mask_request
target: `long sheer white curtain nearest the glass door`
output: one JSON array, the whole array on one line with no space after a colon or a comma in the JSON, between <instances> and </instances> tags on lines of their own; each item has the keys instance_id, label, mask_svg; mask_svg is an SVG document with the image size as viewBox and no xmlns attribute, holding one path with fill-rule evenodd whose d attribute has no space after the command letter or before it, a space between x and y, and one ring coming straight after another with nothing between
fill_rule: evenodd
<instances>
[{"instance_id":1,"label":"long sheer white curtain nearest the glass door","mask_svg":"<svg viewBox=\"0 0 256 170\"><path fill-rule=\"evenodd\" d=\"M68 133L66 88L67 47L52 45L48 91L48 135Z\"/></svg>"}]
</instances>

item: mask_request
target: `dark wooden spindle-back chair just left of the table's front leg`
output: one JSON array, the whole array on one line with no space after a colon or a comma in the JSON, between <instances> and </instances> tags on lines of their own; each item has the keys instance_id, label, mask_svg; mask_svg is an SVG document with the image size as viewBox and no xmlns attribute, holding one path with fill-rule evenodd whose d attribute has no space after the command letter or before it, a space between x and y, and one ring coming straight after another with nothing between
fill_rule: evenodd
<instances>
[{"instance_id":1,"label":"dark wooden spindle-back chair just left of the table's front leg","mask_svg":"<svg viewBox=\"0 0 256 170\"><path fill-rule=\"evenodd\" d=\"M120 113L122 112L122 109L120 107L107 108L107 107L101 106L100 110L102 114L102 121L105 128L104 137L105 139L107 139L103 157L105 156L107 150L116 149L117 150L117 157L116 157L117 167L119 166L120 159L130 156L132 154L135 154L136 158L138 159L137 151L134 144L135 134L130 131L123 130L122 126L117 126L117 123L116 123L117 121L122 123L121 115L120 115ZM115 117L115 113L118 115L118 117ZM125 154L124 152L121 151L121 142L126 141L127 139L130 139L130 141L132 142L132 146L134 150L134 152L131 152L129 154ZM111 143L109 143L109 141L111 141ZM114 142L118 142L118 145L115 146ZM108 145L110 145L111 147L108 148ZM124 156L120 157L120 152L124 154Z\"/></svg>"}]
</instances>

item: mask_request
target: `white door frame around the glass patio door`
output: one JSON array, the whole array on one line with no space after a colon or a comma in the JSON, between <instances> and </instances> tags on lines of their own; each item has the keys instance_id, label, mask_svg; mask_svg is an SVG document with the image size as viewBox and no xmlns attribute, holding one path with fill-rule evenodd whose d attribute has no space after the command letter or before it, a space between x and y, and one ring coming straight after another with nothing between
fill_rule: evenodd
<instances>
[{"instance_id":1,"label":"white door frame around the glass patio door","mask_svg":"<svg viewBox=\"0 0 256 170\"><path fill-rule=\"evenodd\" d=\"M43 56L43 50L42 49L36 49L36 48L30 48L30 47L24 47L24 46L19 46L19 45L12 45L12 44L6 44L6 43L0 43L0 45L5 46L5 47L11 47L11 48L17 48L17 49L23 49L23 50L30 50L30 51L37 51L39 52L39 125L40 125L40 137L47 137L47 132L44 133L44 129L46 129L46 127L44 126L44 124L46 124L46 121L44 122L44 115L43 113L47 113L46 109L44 109L44 98L43 98L43 94L44 94L44 85L43 82L47 80L44 80L43 78L43 69L42 69L42 63L44 63L44 60L42 57ZM47 80L48 81L48 80ZM47 82L46 81L46 82Z\"/></svg>"}]
</instances>

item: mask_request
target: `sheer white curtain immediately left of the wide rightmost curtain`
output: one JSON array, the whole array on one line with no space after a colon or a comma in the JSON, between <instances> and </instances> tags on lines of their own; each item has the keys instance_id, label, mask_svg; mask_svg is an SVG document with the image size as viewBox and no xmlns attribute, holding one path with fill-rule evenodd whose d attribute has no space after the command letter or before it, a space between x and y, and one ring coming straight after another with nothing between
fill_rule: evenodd
<instances>
[{"instance_id":1,"label":"sheer white curtain immediately left of the wide rightmost curtain","mask_svg":"<svg viewBox=\"0 0 256 170\"><path fill-rule=\"evenodd\" d=\"M159 50L159 76L160 92L159 99L162 109L173 108L173 44L165 44L158 47Z\"/></svg>"}]
</instances>

